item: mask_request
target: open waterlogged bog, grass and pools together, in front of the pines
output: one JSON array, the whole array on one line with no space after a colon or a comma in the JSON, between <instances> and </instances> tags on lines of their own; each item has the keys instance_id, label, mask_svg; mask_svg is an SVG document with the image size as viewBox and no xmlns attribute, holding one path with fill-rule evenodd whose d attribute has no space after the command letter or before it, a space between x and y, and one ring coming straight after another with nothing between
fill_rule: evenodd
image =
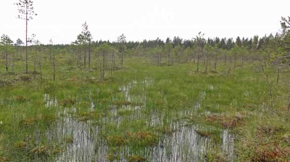
<instances>
[{"instance_id":1,"label":"open waterlogged bog, grass and pools together, in front of the pines","mask_svg":"<svg viewBox=\"0 0 290 162\"><path fill-rule=\"evenodd\" d=\"M286 73L273 84L271 109L269 85L252 65L204 74L132 60L105 81L98 70L59 64L66 74L57 82L44 66L43 85L27 75L2 86L0 162L290 159Z\"/></svg>"}]
</instances>

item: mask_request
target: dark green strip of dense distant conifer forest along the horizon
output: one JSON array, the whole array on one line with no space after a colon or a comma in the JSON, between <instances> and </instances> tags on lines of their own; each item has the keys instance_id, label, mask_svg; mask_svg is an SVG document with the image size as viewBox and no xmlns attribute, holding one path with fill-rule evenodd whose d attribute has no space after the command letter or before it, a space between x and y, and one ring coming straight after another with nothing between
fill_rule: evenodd
<instances>
[{"instance_id":1,"label":"dark green strip of dense distant conifer forest along the horizon","mask_svg":"<svg viewBox=\"0 0 290 162\"><path fill-rule=\"evenodd\" d=\"M264 36L259 38L259 36L254 36L253 38L240 38L237 37L236 39L233 38L208 38L204 40L204 45L209 45L210 47L217 47L219 49L226 49L226 50L231 50L232 48L237 45L238 47L244 47L247 50L260 50L260 49L265 49L269 46L277 46L277 42L282 39L281 34L276 33L275 36L270 34L269 36ZM20 40L21 41L21 40ZM72 42L72 44L75 44L76 42ZM117 41L91 41L92 46L100 46L102 44L108 44L113 47L118 46ZM194 48L197 45L197 40L196 38L192 38L191 40L183 40L182 38L179 37L174 37L173 39L167 38L165 41L160 40L157 38L156 40L143 40L142 42L140 41L127 41L125 42L126 48L127 49L133 49L137 48L138 46L141 46L143 48L154 48L157 46L164 47L166 44L171 44L172 47L176 46L181 46L183 48ZM17 44L15 44L17 45ZM54 45L55 48L58 49L63 49L67 48L70 45ZM272 47L271 47L272 48Z\"/></svg>"}]
</instances>

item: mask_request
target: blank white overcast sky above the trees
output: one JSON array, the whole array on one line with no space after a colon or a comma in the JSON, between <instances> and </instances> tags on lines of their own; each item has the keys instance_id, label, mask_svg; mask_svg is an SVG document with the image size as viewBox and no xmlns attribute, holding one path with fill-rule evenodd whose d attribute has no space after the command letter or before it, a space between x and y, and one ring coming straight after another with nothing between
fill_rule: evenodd
<instances>
[{"instance_id":1,"label":"blank white overcast sky above the trees","mask_svg":"<svg viewBox=\"0 0 290 162\"><path fill-rule=\"evenodd\" d=\"M19 20L17 0L0 0L0 34L15 41L25 38L25 22ZM47 44L67 44L81 33L87 21L94 40L165 40L179 36L236 38L264 36L280 29L281 16L290 16L290 0L35 0L38 14L29 22L28 35Z\"/></svg>"}]
</instances>

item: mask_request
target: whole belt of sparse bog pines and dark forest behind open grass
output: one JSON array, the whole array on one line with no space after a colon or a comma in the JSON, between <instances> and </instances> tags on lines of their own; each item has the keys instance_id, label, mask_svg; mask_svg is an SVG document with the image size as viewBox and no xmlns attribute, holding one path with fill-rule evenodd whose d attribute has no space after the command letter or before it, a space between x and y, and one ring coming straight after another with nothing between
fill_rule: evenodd
<instances>
[{"instance_id":1,"label":"whole belt of sparse bog pines and dark forest behind open grass","mask_svg":"<svg viewBox=\"0 0 290 162\"><path fill-rule=\"evenodd\" d=\"M289 65L290 52L290 18L281 19L282 32L259 38L205 38L199 33L191 40L183 40L179 37L167 38L165 41L156 40L126 41L122 34L116 41L93 41L88 24L82 24L82 31L76 40L69 45L43 45L37 40L36 35L27 37L25 42L20 39L14 43L9 36L3 35L0 41L0 52L3 53L6 71L9 65L13 66L15 60L24 61L25 73L28 73L28 58L34 62L34 72L41 60L52 61L53 69L57 55L67 58L69 64L75 64L82 69L91 69L98 65L101 77L104 78L105 70L123 68L123 57L143 56L149 57L152 64L162 66L164 64L193 62L197 64L197 72L200 64L204 72L208 72L208 66L216 69L220 63L232 63L231 68L243 66L249 61L268 61L274 64ZM23 46L25 45L25 47ZM25 57L24 57L25 54ZM9 63L10 62L10 63ZM229 69L231 69L229 68ZM13 68L12 68L13 69Z\"/></svg>"}]
</instances>

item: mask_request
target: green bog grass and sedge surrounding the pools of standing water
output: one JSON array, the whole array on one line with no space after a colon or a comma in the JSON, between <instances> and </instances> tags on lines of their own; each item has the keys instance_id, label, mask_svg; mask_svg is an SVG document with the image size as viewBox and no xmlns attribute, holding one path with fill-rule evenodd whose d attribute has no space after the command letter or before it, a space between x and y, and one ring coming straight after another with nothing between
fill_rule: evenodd
<instances>
[{"instance_id":1,"label":"green bog grass and sedge surrounding the pools of standing water","mask_svg":"<svg viewBox=\"0 0 290 162\"><path fill-rule=\"evenodd\" d=\"M102 138L109 146L109 160L118 159L120 149L126 146L130 148L128 161L144 161L142 150L178 131L171 129L172 122L213 126L216 129L201 130L198 134L217 143L220 143L220 129L230 129L236 136L237 161L289 159L286 74L281 74L280 83L275 85L275 73L267 69L274 93L274 110L270 111L265 108L269 107L265 76L252 70L254 66L249 64L232 70L229 75L224 73L229 66L225 64L215 72L210 69L208 74L203 74L196 73L196 65L192 63L156 67L148 64L146 58L133 57L126 58L125 68L114 71L112 78L106 72L103 81L99 70L87 73L66 66L61 59L56 82L52 81L48 64L44 64L42 85L39 75L25 75L31 81L23 77L23 62L16 63L16 75L0 74L5 81L0 90L1 162L33 161L36 157L53 159L65 151L64 145L48 140L45 135L62 115L102 127ZM20 77L24 79L17 79ZM128 89L131 101L119 89L124 85L131 86ZM57 106L46 107L45 94L56 99ZM59 116L65 109L70 109L70 113ZM160 121L148 124L153 114L162 124ZM103 118L113 121L104 122ZM119 118L119 123L114 122ZM73 142L70 137L63 141ZM214 161L223 157L216 152L207 152L205 158Z\"/></svg>"}]
</instances>

